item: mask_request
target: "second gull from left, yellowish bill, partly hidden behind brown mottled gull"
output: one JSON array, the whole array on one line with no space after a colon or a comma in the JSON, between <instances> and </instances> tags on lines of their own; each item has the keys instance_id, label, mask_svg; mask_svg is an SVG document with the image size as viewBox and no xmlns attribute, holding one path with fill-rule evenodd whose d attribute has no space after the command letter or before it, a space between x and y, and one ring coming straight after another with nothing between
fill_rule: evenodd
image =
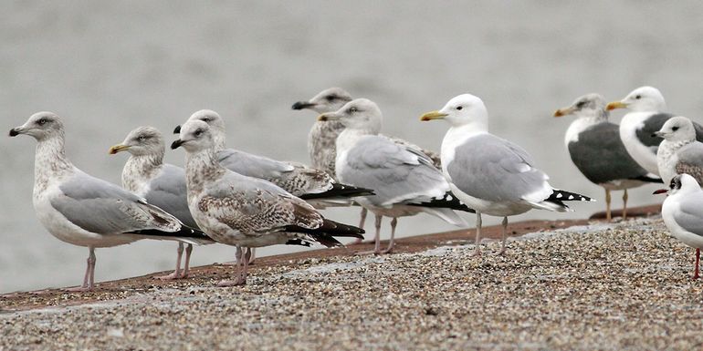
<instances>
[{"instance_id":1,"label":"second gull from left, yellowish bill, partly hidden behind brown mottled gull","mask_svg":"<svg viewBox=\"0 0 703 351\"><path fill-rule=\"evenodd\" d=\"M142 196L152 205L171 213L185 225L198 229L188 209L185 187L185 170L163 163L165 146L163 136L153 127L132 130L121 144L110 148L110 154L128 151L131 156L122 169L122 188ZM214 243L214 242L213 242ZM185 249L185 264L181 270L184 243L178 243L176 268L173 274L160 279L181 279L188 276L193 244Z\"/></svg>"}]
</instances>

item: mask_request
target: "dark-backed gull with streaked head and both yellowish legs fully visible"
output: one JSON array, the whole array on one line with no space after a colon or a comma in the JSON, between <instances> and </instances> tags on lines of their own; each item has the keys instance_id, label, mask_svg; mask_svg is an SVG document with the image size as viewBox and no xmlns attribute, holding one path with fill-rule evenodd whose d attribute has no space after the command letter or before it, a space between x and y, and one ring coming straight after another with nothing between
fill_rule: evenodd
<instances>
[{"instance_id":1,"label":"dark-backed gull with streaked head and both yellowish legs fully visible","mask_svg":"<svg viewBox=\"0 0 703 351\"><path fill-rule=\"evenodd\" d=\"M610 191L624 191L623 220L627 219L627 190L661 179L640 167L624 149L617 124L608 121L609 113L601 95L584 95L571 106L554 112L554 117L567 115L576 117L564 136L573 164L589 181L605 190L608 221L611 220Z\"/></svg>"}]
</instances>

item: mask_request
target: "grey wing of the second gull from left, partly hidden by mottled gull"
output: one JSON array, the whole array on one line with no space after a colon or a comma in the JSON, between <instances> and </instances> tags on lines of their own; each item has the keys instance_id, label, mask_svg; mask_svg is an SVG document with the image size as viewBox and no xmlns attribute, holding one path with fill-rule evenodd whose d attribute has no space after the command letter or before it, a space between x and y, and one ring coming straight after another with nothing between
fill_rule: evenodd
<instances>
[{"instance_id":1,"label":"grey wing of the second gull from left, partly hidden by mottled gull","mask_svg":"<svg viewBox=\"0 0 703 351\"><path fill-rule=\"evenodd\" d=\"M162 172L149 184L146 201L171 213L185 225L197 229L193 215L188 209L188 190L185 185L185 171L171 164L164 164Z\"/></svg>"}]
</instances>

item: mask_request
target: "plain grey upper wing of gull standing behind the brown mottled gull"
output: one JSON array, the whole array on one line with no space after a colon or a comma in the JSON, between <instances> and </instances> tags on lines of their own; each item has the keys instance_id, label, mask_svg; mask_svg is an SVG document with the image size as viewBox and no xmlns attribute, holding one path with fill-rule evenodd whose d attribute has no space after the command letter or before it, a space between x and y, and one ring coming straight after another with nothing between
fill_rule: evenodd
<instances>
[{"instance_id":1,"label":"plain grey upper wing of gull standing behind the brown mottled gull","mask_svg":"<svg viewBox=\"0 0 703 351\"><path fill-rule=\"evenodd\" d=\"M258 179L278 178L294 169L288 163L271 160L240 150L221 150L217 153L217 158L226 169Z\"/></svg>"}]
</instances>

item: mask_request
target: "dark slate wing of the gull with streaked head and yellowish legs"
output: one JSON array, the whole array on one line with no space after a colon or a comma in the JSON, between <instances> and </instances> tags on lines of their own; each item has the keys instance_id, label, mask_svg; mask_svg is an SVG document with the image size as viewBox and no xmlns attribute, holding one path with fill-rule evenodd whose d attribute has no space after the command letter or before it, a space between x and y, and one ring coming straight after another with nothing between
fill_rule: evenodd
<instances>
[{"instance_id":1,"label":"dark slate wing of the gull with streaked head and yellowish legs","mask_svg":"<svg viewBox=\"0 0 703 351\"><path fill-rule=\"evenodd\" d=\"M618 126L603 122L583 130L578 141L569 143L573 164L596 184L636 179L647 171L624 149Z\"/></svg>"}]
</instances>

